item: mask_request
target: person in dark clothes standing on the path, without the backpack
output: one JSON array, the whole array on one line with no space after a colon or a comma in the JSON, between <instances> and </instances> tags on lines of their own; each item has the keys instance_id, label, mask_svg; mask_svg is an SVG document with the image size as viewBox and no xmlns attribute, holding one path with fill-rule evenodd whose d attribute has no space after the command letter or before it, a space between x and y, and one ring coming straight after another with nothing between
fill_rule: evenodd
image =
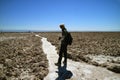
<instances>
[{"instance_id":1,"label":"person in dark clothes standing on the path, without the backpack","mask_svg":"<svg viewBox=\"0 0 120 80\"><path fill-rule=\"evenodd\" d=\"M65 28L64 24L61 24L60 28L62 30L62 37L59 37L59 40L61 40L61 46L60 46L60 50L59 50L58 62L55 63L56 66L61 65L63 53L64 53L64 62L63 63L65 65L67 64L67 46L68 46L68 43L67 43L66 37L67 37L68 32L67 32L67 29Z\"/></svg>"}]
</instances>

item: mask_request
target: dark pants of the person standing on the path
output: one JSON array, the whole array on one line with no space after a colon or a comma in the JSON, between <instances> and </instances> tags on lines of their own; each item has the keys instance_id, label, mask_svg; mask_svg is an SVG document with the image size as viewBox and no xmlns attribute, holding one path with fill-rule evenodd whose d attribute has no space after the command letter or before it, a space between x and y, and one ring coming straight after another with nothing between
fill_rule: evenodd
<instances>
[{"instance_id":1,"label":"dark pants of the person standing on the path","mask_svg":"<svg viewBox=\"0 0 120 80\"><path fill-rule=\"evenodd\" d=\"M60 64L61 64L63 53L64 53L64 63L67 63L67 44L61 44L60 46L59 59L58 59L58 63Z\"/></svg>"}]
</instances>

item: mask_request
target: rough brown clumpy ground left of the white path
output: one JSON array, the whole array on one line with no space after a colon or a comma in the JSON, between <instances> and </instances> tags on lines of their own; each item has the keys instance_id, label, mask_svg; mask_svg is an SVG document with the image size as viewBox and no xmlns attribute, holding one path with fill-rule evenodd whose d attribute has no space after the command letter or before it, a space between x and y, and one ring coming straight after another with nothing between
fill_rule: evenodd
<instances>
[{"instance_id":1,"label":"rough brown clumpy ground left of the white path","mask_svg":"<svg viewBox=\"0 0 120 80\"><path fill-rule=\"evenodd\" d=\"M43 80L48 74L48 60L40 38L30 33L4 35L15 38L0 41L0 80Z\"/></svg>"}]
</instances>

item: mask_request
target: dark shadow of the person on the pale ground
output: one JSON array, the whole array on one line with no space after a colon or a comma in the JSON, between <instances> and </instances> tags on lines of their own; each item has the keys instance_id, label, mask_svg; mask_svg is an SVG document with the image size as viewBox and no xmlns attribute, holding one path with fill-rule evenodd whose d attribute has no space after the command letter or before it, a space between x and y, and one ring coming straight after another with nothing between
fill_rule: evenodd
<instances>
[{"instance_id":1,"label":"dark shadow of the person on the pale ground","mask_svg":"<svg viewBox=\"0 0 120 80\"><path fill-rule=\"evenodd\" d=\"M55 80L70 79L73 76L72 72L67 70L66 68L67 65L58 66L58 71L56 71L56 73L58 73L58 77Z\"/></svg>"}]
</instances>

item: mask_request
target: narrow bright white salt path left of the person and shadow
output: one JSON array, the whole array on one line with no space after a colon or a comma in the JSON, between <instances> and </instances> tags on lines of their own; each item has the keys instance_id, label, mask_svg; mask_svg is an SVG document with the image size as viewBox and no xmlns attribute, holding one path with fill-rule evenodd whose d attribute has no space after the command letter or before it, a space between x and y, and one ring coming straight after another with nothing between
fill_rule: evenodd
<instances>
[{"instance_id":1,"label":"narrow bright white salt path left of the person and shadow","mask_svg":"<svg viewBox=\"0 0 120 80\"><path fill-rule=\"evenodd\" d=\"M55 47L51 45L50 42L47 41L46 38L42 38L41 41L43 42L42 48L45 54L47 54L47 59L49 61L49 74L45 77L44 80L55 80L58 76L56 73L57 66L54 63L57 62L58 55Z\"/></svg>"}]
</instances>

